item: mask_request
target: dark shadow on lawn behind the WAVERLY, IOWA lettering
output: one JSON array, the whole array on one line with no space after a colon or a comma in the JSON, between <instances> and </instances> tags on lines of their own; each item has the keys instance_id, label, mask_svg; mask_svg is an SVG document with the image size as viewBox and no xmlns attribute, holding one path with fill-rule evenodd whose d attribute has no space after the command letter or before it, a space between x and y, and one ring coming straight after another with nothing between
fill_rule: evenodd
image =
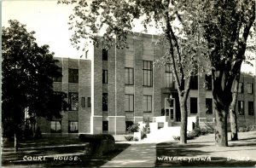
<instances>
[{"instance_id":1,"label":"dark shadow on lawn behind the WAVERLY, IOWA lettering","mask_svg":"<svg viewBox=\"0 0 256 168\"><path fill-rule=\"evenodd\" d=\"M165 166L254 166L256 161L236 160L223 157L211 157L211 152L201 151L209 148L206 144L179 144L178 142L156 145L156 167ZM193 149L191 149L193 148ZM212 146L214 148L214 146ZM198 157L199 156L199 157ZM175 159L174 159L175 157ZM178 159L178 157L180 159ZM190 159L189 159L190 158Z\"/></svg>"}]
</instances>

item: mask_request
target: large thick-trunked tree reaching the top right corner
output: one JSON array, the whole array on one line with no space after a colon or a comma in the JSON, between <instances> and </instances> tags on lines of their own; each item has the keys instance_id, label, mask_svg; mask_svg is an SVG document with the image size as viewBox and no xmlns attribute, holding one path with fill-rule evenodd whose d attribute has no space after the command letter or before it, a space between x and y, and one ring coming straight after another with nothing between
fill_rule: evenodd
<instances>
[{"instance_id":1,"label":"large thick-trunked tree reaching the top right corner","mask_svg":"<svg viewBox=\"0 0 256 168\"><path fill-rule=\"evenodd\" d=\"M255 1L188 2L194 5L191 8L200 11L199 24L204 27L204 37L209 49L212 49L212 95L217 122L215 142L218 146L228 146L227 114L232 101L232 84L240 75L241 63L245 60L245 51L248 49L247 38L255 29Z\"/></svg>"}]
</instances>

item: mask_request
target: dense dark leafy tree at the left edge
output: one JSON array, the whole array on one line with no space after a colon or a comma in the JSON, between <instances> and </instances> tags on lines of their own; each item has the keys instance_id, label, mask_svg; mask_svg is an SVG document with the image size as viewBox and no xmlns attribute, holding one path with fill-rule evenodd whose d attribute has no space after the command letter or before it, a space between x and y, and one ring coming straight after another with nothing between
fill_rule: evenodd
<instances>
[{"instance_id":1,"label":"dense dark leafy tree at the left edge","mask_svg":"<svg viewBox=\"0 0 256 168\"><path fill-rule=\"evenodd\" d=\"M15 135L15 150L25 114L33 120L61 118L61 109L67 107L66 95L53 90L53 78L61 76L54 54L48 45L38 46L33 34L18 20L9 20L9 27L3 27L3 136Z\"/></svg>"}]
</instances>

